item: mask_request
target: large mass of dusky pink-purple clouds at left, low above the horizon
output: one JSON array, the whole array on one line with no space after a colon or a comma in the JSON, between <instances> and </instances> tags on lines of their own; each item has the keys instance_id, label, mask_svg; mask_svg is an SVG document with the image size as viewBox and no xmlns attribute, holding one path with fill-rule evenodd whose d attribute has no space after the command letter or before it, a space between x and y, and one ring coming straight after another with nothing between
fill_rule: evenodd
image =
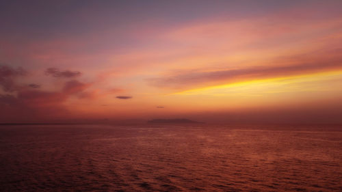
<instances>
[{"instance_id":1,"label":"large mass of dusky pink-purple clouds at left, low above the horizon","mask_svg":"<svg viewBox=\"0 0 342 192\"><path fill-rule=\"evenodd\" d=\"M56 72L57 71L57 72ZM54 77L76 77L79 72L59 72L49 70ZM66 100L72 96L77 98L92 98L94 93L85 92L92 85L77 80L66 81L60 90L40 90L41 85L29 83L20 85L16 83L17 77L26 77L27 72L23 68L0 66L0 87L9 94L0 94L0 121L24 121L47 120L53 118L65 118L69 108ZM15 94L12 94L15 92Z\"/></svg>"}]
</instances>

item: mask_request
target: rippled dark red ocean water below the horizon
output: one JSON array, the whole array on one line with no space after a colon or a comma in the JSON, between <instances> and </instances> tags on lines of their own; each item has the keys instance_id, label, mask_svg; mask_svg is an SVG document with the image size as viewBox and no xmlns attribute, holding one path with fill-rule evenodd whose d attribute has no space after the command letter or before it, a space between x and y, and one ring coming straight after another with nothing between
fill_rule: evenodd
<instances>
[{"instance_id":1,"label":"rippled dark red ocean water below the horizon","mask_svg":"<svg viewBox=\"0 0 342 192\"><path fill-rule=\"evenodd\" d=\"M0 126L0 191L342 191L342 126Z\"/></svg>"}]
</instances>

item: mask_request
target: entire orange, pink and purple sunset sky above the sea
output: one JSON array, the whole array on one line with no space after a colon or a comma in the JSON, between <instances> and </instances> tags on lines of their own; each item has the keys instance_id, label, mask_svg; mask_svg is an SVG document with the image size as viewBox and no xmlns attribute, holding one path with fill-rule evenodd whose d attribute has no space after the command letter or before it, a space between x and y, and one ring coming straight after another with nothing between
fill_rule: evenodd
<instances>
[{"instance_id":1,"label":"entire orange, pink and purple sunset sky above the sea","mask_svg":"<svg viewBox=\"0 0 342 192\"><path fill-rule=\"evenodd\" d=\"M0 122L342 123L342 1L0 1Z\"/></svg>"}]
</instances>

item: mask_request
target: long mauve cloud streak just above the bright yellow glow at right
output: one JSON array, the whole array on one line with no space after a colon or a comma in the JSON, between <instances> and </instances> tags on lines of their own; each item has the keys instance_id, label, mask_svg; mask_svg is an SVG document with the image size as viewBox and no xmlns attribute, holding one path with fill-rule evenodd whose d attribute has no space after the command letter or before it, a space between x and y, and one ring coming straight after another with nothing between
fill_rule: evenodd
<instances>
[{"instance_id":1,"label":"long mauve cloud streak just above the bright yellow glow at right","mask_svg":"<svg viewBox=\"0 0 342 192\"><path fill-rule=\"evenodd\" d=\"M252 66L230 70L214 70L209 72L185 71L168 77L147 79L150 85L173 89L191 89L210 85L222 85L239 81L286 77L298 74L323 72L342 69L342 59L326 61L326 63L295 64L291 66Z\"/></svg>"}]
</instances>

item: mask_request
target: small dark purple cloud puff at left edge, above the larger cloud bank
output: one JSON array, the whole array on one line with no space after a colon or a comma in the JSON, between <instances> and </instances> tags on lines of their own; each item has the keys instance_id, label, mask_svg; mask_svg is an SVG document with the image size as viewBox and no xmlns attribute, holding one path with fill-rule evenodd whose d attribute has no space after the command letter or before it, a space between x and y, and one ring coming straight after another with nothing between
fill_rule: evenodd
<instances>
[{"instance_id":1,"label":"small dark purple cloud puff at left edge, above the larger cloud bank","mask_svg":"<svg viewBox=\"0 0 342 192\"><path fill-rule=\"evenodd\" d=\"M12 68L10 66L0 66L0 87L4 92L14 92L18 89L15 83L16 77L23 77L27 74L23 68Z\"/></svg>"}]
</instances>

